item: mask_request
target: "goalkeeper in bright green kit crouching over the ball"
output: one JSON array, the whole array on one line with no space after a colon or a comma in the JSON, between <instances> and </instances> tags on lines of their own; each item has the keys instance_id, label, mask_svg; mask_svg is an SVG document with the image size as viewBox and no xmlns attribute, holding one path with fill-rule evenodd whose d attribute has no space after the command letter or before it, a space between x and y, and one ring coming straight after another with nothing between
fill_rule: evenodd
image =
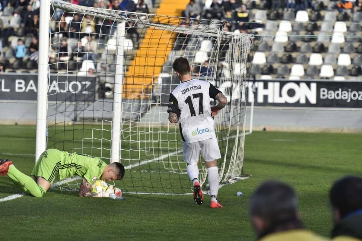
<instances>
[{"instance_id":1,"label":"goalkeeper in bright green kit crouching over the ball","mask_svg":"<svg viewBox=\"0 0 362 241\"><path fill-rule=\"evenodd\" d=\"M121 180L125 175L125 168L118 162L107 165L99 157L48 149L39 157L30 177L16 169L12 161L0 159L0 176L6 175L24 193L35 197L44 196L55 176L59 175L62 180L77 175L83 177L79 196L103 197L106 195L90 192L92 183L97 179Z\"/></svg>"}]
</instances>

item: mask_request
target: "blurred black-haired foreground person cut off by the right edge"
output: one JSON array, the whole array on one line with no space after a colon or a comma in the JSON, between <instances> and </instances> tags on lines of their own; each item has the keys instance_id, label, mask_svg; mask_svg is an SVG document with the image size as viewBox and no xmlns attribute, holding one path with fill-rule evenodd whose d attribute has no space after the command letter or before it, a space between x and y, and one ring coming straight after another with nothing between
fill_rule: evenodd
<instances>
[{"instance_id":1,"label":"blurred black-haired foreground person cut off by the right edge","mask_svg":"<svg viewBox=\"0 0 362 241\"><path fill-rule=\"evenodd\" d=\"M362 240L362 178L346 176L333 184L329 193L332 205L334 241Z\"/></svg>"}]
</instances>

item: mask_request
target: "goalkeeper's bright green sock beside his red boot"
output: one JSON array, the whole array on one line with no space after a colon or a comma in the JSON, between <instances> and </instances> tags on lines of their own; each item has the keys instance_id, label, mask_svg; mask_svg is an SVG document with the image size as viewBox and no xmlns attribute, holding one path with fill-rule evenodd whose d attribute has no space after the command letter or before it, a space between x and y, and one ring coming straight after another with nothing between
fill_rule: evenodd
<instances>
[{"instance_id":1,"label":"goalkeeper's bright green sock beside his red boot","mask_svg":"<svg viewBox=\"0 0 362 241\"><path fill-rule=\"evenodd\" d=\"M17 186L21 185L22 187L25 187L31 195L40 198L46 193L44 187L38 185L33 178L20 172L14 165L9 166L8 174L10 174L8 176Z\"/></svg>"}]
</instances>

